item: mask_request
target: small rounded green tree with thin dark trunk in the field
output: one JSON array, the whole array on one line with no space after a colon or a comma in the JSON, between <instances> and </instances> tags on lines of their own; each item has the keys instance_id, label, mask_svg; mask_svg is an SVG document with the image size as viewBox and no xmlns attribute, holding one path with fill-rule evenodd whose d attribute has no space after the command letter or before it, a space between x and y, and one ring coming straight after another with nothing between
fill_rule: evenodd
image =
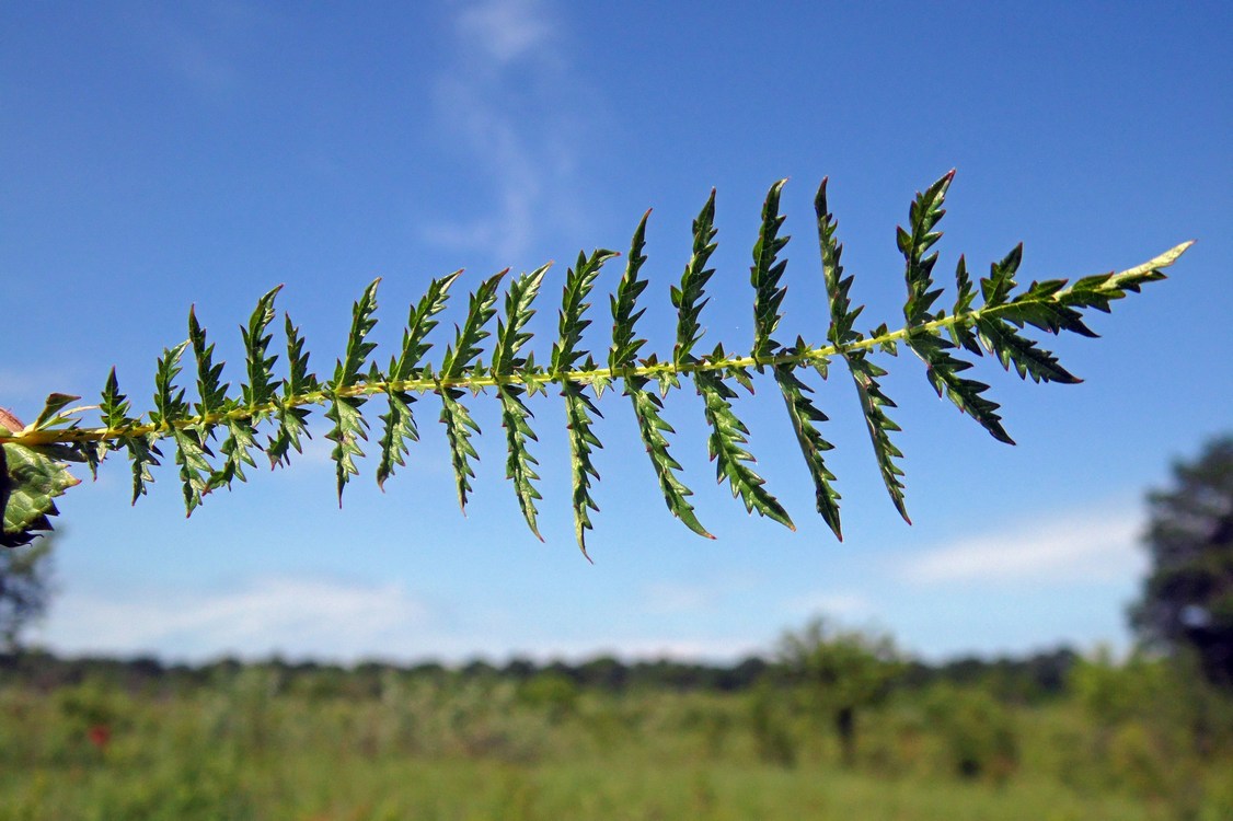
<instances>
[{"instance_id":1,"label":"small rounded green tree with thin dark trunk in the field","mask_svg":"<svg viewBox=\"0 0 1233 821\"><path fill-rule=\"evenodd\" d=\"M857 714L884 701L903 672L894 641L815 619L800 632L784 634L778 657L830 720L843 763L856 763Z\"/></svg>"}]
</instances>

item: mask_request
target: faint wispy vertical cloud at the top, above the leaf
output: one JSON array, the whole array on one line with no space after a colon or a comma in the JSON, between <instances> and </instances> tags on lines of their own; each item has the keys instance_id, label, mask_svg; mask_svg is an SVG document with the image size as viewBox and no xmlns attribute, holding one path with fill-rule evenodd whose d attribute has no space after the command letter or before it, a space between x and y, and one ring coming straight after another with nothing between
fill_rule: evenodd
<instances>
[{"instance_id":1,"label":"faint wispy vertical cloud at the top, above the leaf","mask_svg":"<svg viewBox=\"0 0 1233 821\"><path fill-rule=\"evenodd\" d=\"M576 80L563 36L539 0L465 4L451 33L457 58L436 79L436 116L491 202L478 217L429 222L423 238L515 264L536 224L576 223L581 211L573 166L583 134L570 113Z\"/></svg>"}]
</instances>

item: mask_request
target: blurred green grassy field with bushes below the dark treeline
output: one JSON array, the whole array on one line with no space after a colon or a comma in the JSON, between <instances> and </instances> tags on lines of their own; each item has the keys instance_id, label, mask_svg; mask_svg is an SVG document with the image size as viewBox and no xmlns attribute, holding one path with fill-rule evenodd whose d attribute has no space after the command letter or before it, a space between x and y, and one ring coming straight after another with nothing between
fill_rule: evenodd
<instances>
[{"instance_id":1,"label":"blurred green grassy field with bushes below the dark treeline","mask_svg":"<svg viewBox=\"0 0 1233 821\"><path fill-rule=\"evenodd\" d=\"M0 677L0 819L1233 817L1229 704L1159 664L899 685L847 766L810 692L767 677L126 669Z\"/></svg>"}]
</instances>

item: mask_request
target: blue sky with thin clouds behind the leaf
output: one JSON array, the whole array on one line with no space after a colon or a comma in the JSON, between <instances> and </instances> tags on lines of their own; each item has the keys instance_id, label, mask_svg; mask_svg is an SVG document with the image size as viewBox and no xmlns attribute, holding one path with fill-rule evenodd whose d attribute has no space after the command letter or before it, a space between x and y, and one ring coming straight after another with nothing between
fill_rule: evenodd
<instances>
[{"instance_id":1,"label":"blue sky with thin clouds behind the leaf","mask_svg":"<svg viewBox=\"0 0 1233 821\"><path fill-rule=\"evenodd\" d=\"M673 452L716 541L670 517L628 402L605 394L593 566L572 539L560 401L531 406L540 544L503 480L494 398L471 402L483 435L465 517L429 398L408 467L381 493L366 460L342 510L319 414L291 470L252 476L189 520L174 467L131 508L127 465L106 464L60 505L59 593L33 637L189 660L727 660L827 614L931 658L1124 646L1143 494L1233 427L1233 12L973 7L6 4L0 406L22 417L52 391L94 401L112 365L148 408L154 359L185 338L190 304L239 382L236 325L280 282L279 306L326 375L375 276L385 361L432 277L465 268L471 290L554 259L533 325L546 357L566 264L628 249L647 207L642 330L666 351L668 286L711 186L704 339L729 349L750 344L750 249L762 197L785 176L795 239L780 338L825 335L811 212L824 175L869 327L901 316L894 228L951 168L943 274L959 253L984 271L1020 240L1030 281L1198 239L1169 281L1095 318L1102 339L1051 340L1083 385L978 365L1016 447L941 403L919 361L883 359L911 528L880 486L842 367L816 387L843 544L813 514L771 386L737 412L797 533L715 487L698 397L668 398ZM593 300L586 339L599 350L620 270L604 270ZM375 420L380 403L369 407Z\"/></svg>"}]
</instances>

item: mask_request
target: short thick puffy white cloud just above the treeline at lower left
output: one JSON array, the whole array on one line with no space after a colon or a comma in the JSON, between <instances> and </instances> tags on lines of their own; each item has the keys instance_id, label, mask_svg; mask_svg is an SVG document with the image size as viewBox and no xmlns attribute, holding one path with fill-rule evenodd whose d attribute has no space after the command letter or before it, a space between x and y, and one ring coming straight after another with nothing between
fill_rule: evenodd
<instances>
[{"instance_id":1,"label":"short thick puffy white cloud just above the treeline at lower left","mask_svg":"<svg viewBox=\"0 0 1233 821\"><path fill-rule=\"evenodd\" d=\"M353 658L425 621L427 609L401 584L279 577L212 594L168 589L118 598L69 590L42 640L69 653Z\"/></svg>"}]
</instances>

